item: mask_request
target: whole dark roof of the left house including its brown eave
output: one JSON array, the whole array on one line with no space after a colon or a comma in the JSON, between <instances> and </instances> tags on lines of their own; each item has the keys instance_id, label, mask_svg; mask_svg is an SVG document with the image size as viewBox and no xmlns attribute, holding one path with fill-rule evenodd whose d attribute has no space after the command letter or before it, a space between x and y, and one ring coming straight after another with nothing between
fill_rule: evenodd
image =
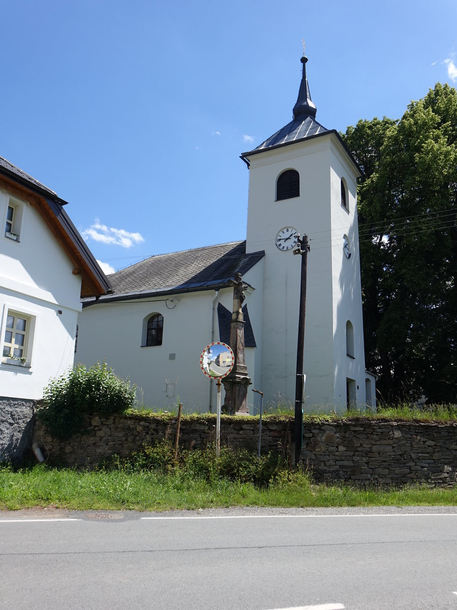
<instances>
[{"instance_id":1,"label":"whole dark roof of the left house including its brown eave","mask_svg":"<svg viewBox=\"0 0 457 610\"><path fill-rule=\"evenodd\" d=\"M57 242L73 262L73 273L81 275L82 297L100 296L110 292L110 282L63 209L66 201L4 157L0 157L0 187L25 199L40 213Z\"/></svg>"}]
</instances>

